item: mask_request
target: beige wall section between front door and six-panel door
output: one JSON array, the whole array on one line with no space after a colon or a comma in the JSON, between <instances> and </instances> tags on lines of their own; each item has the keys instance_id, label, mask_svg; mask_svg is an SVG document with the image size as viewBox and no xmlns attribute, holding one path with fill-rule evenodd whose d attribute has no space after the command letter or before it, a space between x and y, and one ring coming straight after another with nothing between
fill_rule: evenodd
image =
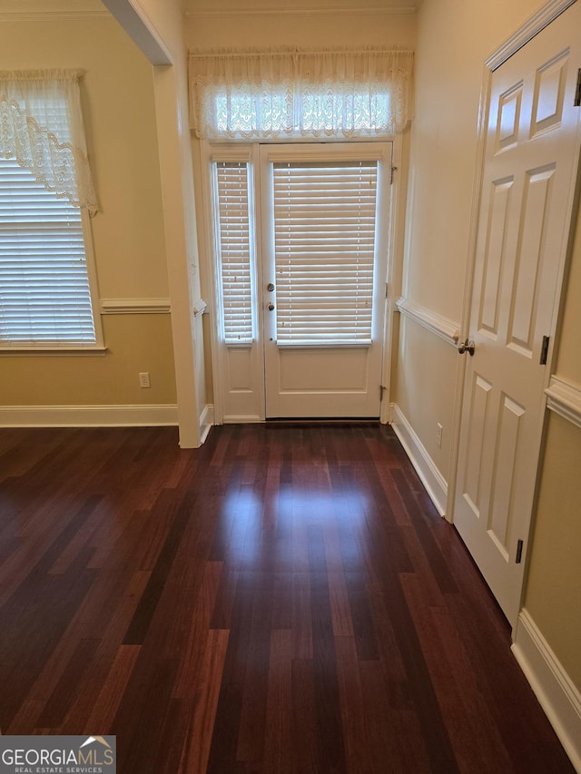
<instances>
[{"instance_id":1,"label":"beige wall section between front door and six-panel door","mask_svg":"<svg viewBox=\"0 0 581 774\"><path fill-rule=\"evenodd\" d=\"M537 0L424 0L418 15L416 115L411 129L408 240L403 295L459 328L468 256L484 63L538 7ZM401 327L393 400L446 481L451 466L458 367L455 349L426 328ZM433 366L430 399L414 395ZM438 423L442 446L436 445Z\"/></svg>"}]
</instances>

